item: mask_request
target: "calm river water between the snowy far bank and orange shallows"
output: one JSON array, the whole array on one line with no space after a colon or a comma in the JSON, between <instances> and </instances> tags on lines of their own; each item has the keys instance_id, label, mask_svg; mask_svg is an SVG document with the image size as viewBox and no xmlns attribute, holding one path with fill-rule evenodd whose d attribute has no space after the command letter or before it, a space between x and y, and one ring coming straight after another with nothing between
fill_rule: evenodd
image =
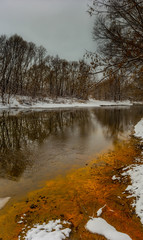
<instances>
[{"instance_id":1,"label":"calm river water between the snowy far bank and orange shallows","mask_svg":"<svg viewBox=\"0 0 143 240\"><path fill-rule=\"evenodd\" d=\"M0 112L0 198L85 166L133 131L143 107Z\"/></svg>"}]
</instances>

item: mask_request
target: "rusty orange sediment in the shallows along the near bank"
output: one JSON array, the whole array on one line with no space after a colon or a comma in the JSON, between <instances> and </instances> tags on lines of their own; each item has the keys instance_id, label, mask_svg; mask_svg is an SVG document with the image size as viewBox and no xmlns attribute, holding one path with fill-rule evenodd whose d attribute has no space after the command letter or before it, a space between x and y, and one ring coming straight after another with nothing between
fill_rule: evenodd
<instances>
[{"instance_id":1,"label":"rusty orange sediment in the shallows along the near bank","mask_svg":"<svg viewBox=\"0 0 143 240\"><path fill-rule=\"evenodd\" d=\"M22 228L52 219L72 223L70 239L105 239L85 229L89 216L106 204L102 217L118 231L129 234L133 240L143 239L143 227L131 209L131 198L123 194L128 181L113 181L122 167L132 164L140 154L135 140L124 142L98 157L85 168L48 181L41 190L31 192L26 199L7 207L0 216L0 239L17 240ZM112 211L113 210L113 211ZM26 214L23 223L18 224ZM22 236L22 234L21 234Z\"/></svg>"}]
</instances>

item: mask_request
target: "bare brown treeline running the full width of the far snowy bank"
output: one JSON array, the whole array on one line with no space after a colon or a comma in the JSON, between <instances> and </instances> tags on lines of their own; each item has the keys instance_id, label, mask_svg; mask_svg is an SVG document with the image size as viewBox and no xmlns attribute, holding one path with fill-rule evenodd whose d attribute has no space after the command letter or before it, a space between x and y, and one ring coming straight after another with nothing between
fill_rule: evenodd
<instances>
[{"instance_id":1,"label":"bare brown treeline running the full width of the far snowy bank","mask_svg":"<svg viewBox=\"0 0 143 240\"><path fill-rule=\"evenodd\" d=\"M101 22L98 21L96 29L94 28L94 37L100 27ZM105 29L102 34L105 36L100 44L108 40ZM98 40L101 40L100 37L102 36L98 36ZM9 102L10 97L15 95L29 96L40 100L45 97L86 100L91 96L99 100L142 101L143 67L141 66L141 57L136 56L135 60L131 59L132 64L129 64L128 56L124 54L124 62L122 62L121 56L119 59L115 55L116 53L119 55L118 45L114 46L113 56L109 56L107 52L111 53L112 41L111 38L109 44L108 40L106 48L104 44L102 51L100 48L100 56L97 56L96 53L88 54L88 59L91 58L89 65L84 60L67 61L58 56L50 56L43 46L38 47L18 35L0 36L1 101ZM127 44L125 48L127 48ZM138 58L139 65L137 66ZM103 75L99 77L101 80L97 81L97 72L100 68L103 69Z\"/></svg>"}]
</instances>

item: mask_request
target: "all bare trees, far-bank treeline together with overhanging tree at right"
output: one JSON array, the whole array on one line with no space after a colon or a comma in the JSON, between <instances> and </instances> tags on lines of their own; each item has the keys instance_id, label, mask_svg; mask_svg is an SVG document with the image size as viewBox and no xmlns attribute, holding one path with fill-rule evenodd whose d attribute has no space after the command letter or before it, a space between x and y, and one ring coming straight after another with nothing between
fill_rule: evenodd
<instances>
[{"instance_id":1,"label":"all bare trees, far-bank treeline together with overhanging tree at right","mask_svg":"<svg viewBox=\"0 0 143 240\"><path fill-rule=\"evenodd\" d=\"M0 36L2 103L15 95L142 101L143 2L94 0L88 12L98 47L79 61L50 56L17 34Z\"/></svg>"}]
</instances>

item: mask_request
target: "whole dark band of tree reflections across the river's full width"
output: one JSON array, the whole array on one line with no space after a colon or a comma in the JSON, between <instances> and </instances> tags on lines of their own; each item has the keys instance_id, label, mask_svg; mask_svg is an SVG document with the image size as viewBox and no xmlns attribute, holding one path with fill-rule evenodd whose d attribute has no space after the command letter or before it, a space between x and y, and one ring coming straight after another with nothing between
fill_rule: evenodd
<instances>
[{"instance_id":1,"label":"whole dark band of tree reflections across the river's full width","mask_svg":"<svg viewBox=\"0 0 143 240\"><path fill-rule=\"evenodd\" d=\"M21 112L17 115L4 111L0 115L0 177L18 180L27 166L32 165L30 156L34 149L50 136L66 142L76 131L80 138L88 140L100 125L105 138L116 142L142 115L141 107Z\"/></svg>"}]
</instances>

